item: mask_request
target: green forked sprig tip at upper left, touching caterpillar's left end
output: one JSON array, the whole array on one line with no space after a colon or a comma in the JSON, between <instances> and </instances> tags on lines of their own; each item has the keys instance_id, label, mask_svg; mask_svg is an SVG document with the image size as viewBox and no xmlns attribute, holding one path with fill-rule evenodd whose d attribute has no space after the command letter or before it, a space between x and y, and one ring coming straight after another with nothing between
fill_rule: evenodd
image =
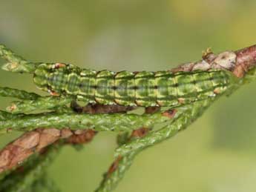
<instances>
[{"instance_id":1,"label":"green forked sprig tip at upper left, touching caterpillar's left end","mask_svg":"<svg viewBox=\"0 0 256 192\"><path fill-rule=\"evenodd\" d=\"M7 60L7 64L4 64L1 68L14 73L33 73L38 65L36 63L27 62L3 44L0 44L0 57Z\"/></svg>"}]
</instances>

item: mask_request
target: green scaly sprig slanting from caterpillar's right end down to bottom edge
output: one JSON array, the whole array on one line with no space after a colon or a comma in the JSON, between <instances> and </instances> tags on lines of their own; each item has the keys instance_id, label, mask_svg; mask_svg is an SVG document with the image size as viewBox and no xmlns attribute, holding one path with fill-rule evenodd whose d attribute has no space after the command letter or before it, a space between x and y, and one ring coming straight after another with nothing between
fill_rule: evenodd
<instances>
[{"instance_id":1,"label":"green scaly sprig slanting from caterpillar's right end down to bottom edge","mask_svg":"<svg viewBox=\"0 0 256 192\"><path fill-rule=\"evenodd\" d=\"M125 171L128 171L128 168L130 168L135 156L138 153L145 148L159 142L163 142L165 139L176 135L176 133L178 133L180 130L183 130L190 125L191 122L194 122L197 117L201 116L203 111L206 110L206 108L209 107L212 102L212 99L208 99L205 101L195 102L192 105L180 107L177 110L178 112L180 110L182 113L177 113L176 118L174 118L171 124L166 125L160 130L152 131L140 139L134 139L131 140L131 142L119 146L119 148L116 149L114 156L115 159L120 157L122 158L119 160L118 165L116 165L117 168L113 173L105 174L104 179L99 185L99 188L96 189L96 192L113 191L124 176Z\"/></svg>"}]
</instances>

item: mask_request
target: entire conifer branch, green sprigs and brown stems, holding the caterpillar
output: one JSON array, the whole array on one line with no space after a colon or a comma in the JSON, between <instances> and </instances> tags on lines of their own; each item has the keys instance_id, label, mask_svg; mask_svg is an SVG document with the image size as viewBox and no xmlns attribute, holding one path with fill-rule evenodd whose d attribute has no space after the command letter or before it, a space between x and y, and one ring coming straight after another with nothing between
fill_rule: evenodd
<instances>
[{"instance_id":1,"label":"entire conifer branch, green sprigs and brown stems, holding the caterpillar","mask_svg":"<svg viewBox=\"0 0 256 192\"><path fill-rule=\"evenodd\" d=\"M33 73L39 64L27 62L4 45L0 45L0 57L7 60L7 64L4 64L2 68L15 73ZM182 64L171 71L177 73L194 70L228 70L234 74L234 79L236 79L224 93L230 94L238 87L255 79L255 66L256 45L242 50L226 51L217 55L214 55L210 50L206 50L202 60ZM180 107L173 106L169 110L161 111L160 108L148 107L145 113L140 115L126 113L128 110L133 110L134 107L113 105L79 107L74 102L77 98L68 96L39 96L36 93L27 93L24 90L0 87L0 96L10 96L22 100L13 102L13 105L7 107L7 112L0 111L0 131L6 132L6 130L10 129L30 131L24 133L23 137L10 143L10 145L7 145L0 151L0 172L3 173L0 191L36 188L35 186L39 186L36 184L39 178L42 178L42 181L39 183L44 181L44 177L38 173L39 169L45 169L45 167L41 167L41 164L43 162L46 163L47 160L41 160L44 158L41 158L42 155L40 154L40 157L36 158L40 163L36 160L31 161L33 166L30 166L29 163L24 164L24 169L27 170L23 173L24 176L17 172L18 169L12 171L19 167L17 166L18 162L26 162L28 157L36 156L35 151L40 152L48 145L63 138L66 139L66 143L82 144L88 141L85 133L94 135L96 131L116 131L119 133L119 147L114 154L115 160L97 189L98 192L112 191L124 176L125 171L131 166L137 154L145 148L163 142L165 139L175 136L180 130L187 128L188 125L202 115L203 111L215 99L221 96L220 94L218 95L218 91L215 91L214 94L217 96L188 105L181 105ZM37 110L40 112L31 114ZM164 122L166 125L163 128L153 130L154 125ZM65 133L64 131L67 130L68 132ZM131 136L128 136L130 133ZM30 160L27 162L30 162ZM13 185L13 182L15 182L15 185Z\"/></svg>"}]
</instances>

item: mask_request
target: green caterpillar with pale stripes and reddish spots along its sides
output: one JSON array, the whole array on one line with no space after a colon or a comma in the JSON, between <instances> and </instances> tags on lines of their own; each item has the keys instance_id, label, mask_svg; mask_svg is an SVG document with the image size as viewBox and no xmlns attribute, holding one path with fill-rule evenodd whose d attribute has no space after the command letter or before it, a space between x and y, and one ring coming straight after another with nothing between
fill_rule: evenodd
<instances>
[{"instance_id":1,"label":"green caterpillar with pale stripes and reddish spots along its sides","mask_svg":"<svg viewBox=\"0 0 256 192\"><path fill-rule=\"evenodd\" d=\"M72 64L40 64L33 82L53 95L77 96L102 105L174 106L217 96L234 76L226 70L115 73L87 70Z\"/></svg>"}]
</instances>

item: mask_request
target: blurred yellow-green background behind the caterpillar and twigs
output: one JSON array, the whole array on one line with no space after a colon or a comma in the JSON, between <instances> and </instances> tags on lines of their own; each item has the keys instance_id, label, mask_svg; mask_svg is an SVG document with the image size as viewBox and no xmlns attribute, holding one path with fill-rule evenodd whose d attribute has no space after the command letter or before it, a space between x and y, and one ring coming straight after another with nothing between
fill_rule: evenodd
<instances>
[{"instance_id":1,"label":"blurred yellow-green background behind the caterpillar and twigs","mask_svg":"<svg viewBox=\"0 0 256 192\"><path fill-rule=\"evenodd\" d=\"M206 47L220 52L255 44L255 7L253 0L0 0L0 43L35 62L164 70L200 59ZM42 93L29 75L0 71L0 81ZM255 86L221 98L188 130L137 156L116 191L255 191ZM1 108L8 102L1 98ZM17 134L0 136L0 147ZM62 191L99 185L115 136L99 133L84 150L62 150L49 168Z\"/></svg>"}]
</instances>

